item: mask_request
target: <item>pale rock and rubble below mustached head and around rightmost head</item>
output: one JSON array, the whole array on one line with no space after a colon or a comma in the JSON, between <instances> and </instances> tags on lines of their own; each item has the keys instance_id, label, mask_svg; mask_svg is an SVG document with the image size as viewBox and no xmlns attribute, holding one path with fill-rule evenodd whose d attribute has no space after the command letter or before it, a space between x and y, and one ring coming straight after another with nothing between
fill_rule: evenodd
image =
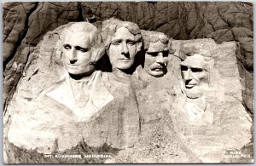
<instances>
[{"instance_id":1,"label":"pale rock and rubble below mustached head and around rightmost head","mask_svg":"<svg viewBox=\"0 0 256 166\"><path fill-rule=\"evenodd\" d=\"M183 43L201 45L212 54L207 66L209 88L203 93L207 106L195 121L189 119L188 99L181 89L178 57ZM172 49L176 52L169 57L164 77L155 78L137 68L133 86L142 133L133 148L106 163L251 163L253 117L242 102L236 43L173 40ZM201 104L195 101L194 106ZM230 157L236 152L238 157Z\"/></svg>"}]
</instances>

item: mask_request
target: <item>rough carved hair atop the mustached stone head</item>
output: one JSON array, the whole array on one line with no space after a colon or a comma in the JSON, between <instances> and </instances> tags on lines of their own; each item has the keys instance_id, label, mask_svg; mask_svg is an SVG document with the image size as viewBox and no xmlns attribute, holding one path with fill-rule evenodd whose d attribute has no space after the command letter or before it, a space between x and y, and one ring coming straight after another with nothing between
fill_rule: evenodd
<instances>
[{"instance_id":1,"label":"rough carved hair atop the mustached stone head","mask_svg":"<svg viewBox=\"0 0 256 166\"><path fill-rule=\"evenodd\" d=\"M145 31L145 30L141 30L142 34L143 34L143 43L144 43L144 49L148 50L149 48L149 44L150 43L157 43L158 41L160 41L163 44L167 44L169 43L169 37L167 37L164 33L162 32L158 32L158 31ZM170 47L168 45L168 47ZM168 48L170 49L170 48Z\"/></svg>"}]
</instances>

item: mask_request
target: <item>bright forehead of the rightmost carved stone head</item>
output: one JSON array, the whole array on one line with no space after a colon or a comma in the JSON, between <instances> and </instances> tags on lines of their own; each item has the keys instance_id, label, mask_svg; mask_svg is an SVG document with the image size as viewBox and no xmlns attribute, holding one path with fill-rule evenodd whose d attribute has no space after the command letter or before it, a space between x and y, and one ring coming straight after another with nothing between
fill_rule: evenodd
<instances>
[{"instance_id":1,"label":"bright forehead of the rightmost carved stone head","mask_svg":"<svg viewBox=\"0 0 256 166\"><path fill-rule=\"evenodd\" d=\"M185 60L183 60L181 65L205 69L207 66L207 61L201 54L193 54L192 56L188 56Z\"/></svg>"}]
</instances>

